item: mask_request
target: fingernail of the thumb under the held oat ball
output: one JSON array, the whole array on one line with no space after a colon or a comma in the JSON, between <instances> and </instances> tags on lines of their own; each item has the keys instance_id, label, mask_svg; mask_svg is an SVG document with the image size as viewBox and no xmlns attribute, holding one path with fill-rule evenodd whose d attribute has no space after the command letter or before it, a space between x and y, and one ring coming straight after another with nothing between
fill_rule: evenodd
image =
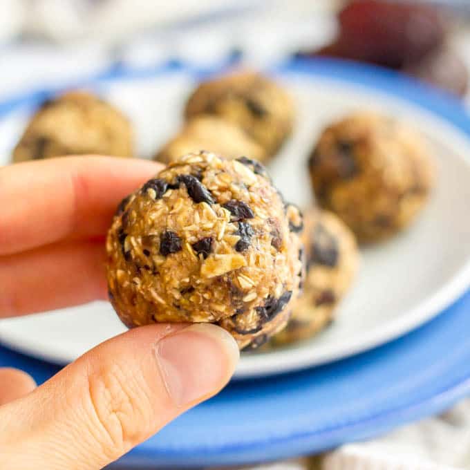
<instances>
[{"instance_id":1,"label":"fingernail of the thumb under the held oat ball","mask_svg":"<svg viewBox=\"0 0 470 470\"><path fill-rule=\"evenodd\" d=\"M219 391L240 357L233 337L211 323L196 323L162 338L156 355L164 384L177 406Z\"/></svg>"}]
</instances>

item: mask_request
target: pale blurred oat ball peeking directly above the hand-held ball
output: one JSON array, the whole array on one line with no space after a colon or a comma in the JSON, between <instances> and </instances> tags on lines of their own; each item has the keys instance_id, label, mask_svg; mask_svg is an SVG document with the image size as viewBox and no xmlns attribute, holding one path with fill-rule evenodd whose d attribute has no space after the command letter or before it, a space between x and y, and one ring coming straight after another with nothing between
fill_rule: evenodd
<instances>
[{"instance_id":1,"label":"pale blurred oat ball peeking directly above the hand-held ball","mask_svg":"<svg viewBox=\"0 0 470 470\"><path fill-rule=\"evenodd\" d=\"M155 160L169 163L190 152L210 149L227 158L249 155L263 161L266 154L247 134L235 124L212 115L191 119L185 127L155 156Z\"/></svg>"}]
</instances>

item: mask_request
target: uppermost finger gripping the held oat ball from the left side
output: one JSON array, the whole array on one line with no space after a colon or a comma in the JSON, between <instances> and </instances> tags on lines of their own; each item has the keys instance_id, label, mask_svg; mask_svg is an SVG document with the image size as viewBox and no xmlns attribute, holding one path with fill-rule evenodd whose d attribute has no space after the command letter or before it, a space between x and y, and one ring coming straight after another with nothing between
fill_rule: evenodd
<instances>
[{"instance_id":1,"label":"uppermost finger gripping the held oat ball from the left side","mask_svg":"<svg viewBox=\"0 0 470 470\"><path fill-rule=\"evenodd\" d=\"M100 156L51 158L0 169L0 255L106 232L120 200L162 165Z\"/></svg>"}]
</instances>

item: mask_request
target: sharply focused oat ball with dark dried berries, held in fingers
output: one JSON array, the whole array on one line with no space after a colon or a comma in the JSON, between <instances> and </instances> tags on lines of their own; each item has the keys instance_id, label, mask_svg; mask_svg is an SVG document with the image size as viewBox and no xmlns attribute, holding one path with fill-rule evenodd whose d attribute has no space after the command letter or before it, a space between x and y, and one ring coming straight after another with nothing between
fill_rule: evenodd
<instances>
[{"instance_id":1,"label":"sharply focused oat ball with dark dried berries, held in fingers","mask_svg":"<svg viewBox=\"0 0 470 470\"><path fill-rule=\"evenodd\" d=\"M259 346L297 297L300 225L259 162L189 153L118 208L106 241L111 303L129 327L212 322L240 348Z\"/></svg>"}]
</instances>

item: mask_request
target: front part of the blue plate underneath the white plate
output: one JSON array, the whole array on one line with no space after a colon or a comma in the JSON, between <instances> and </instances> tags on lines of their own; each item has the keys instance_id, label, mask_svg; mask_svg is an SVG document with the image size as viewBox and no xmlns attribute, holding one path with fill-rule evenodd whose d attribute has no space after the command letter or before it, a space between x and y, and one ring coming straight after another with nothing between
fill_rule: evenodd
<instances>
[{"instance_id":1,"label":"front part of the blue plate underneath the white plate","mask_svg":"<svg viewBox=\"0 0 470 470\"><path fill-rule=\"evenodd\" d=\"M115 466L181 469L291 458L440 413L470 395L469 311L470 293L421 328L367 353L232 382ZM39 383L59 370L1 346L0 366L27 370Z\"/></svg>"}]
</instances>

